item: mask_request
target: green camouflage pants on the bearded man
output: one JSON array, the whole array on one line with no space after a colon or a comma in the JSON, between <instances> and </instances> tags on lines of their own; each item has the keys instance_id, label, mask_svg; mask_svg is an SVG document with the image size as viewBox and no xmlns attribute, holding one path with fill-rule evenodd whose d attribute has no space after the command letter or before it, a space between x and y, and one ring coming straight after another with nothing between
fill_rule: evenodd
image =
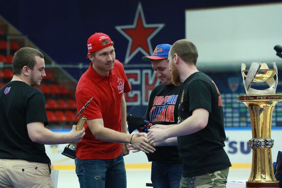
<instances>
[{"instance_id":1,"label":"green camouflage pants on the bearded man","mask_svg":"<svg viewBox=\"0 0 282 188\"><path fill-rule=\"evenodd\" d=\"M229 168L195 177L181 177L179 188L225 188Z\"/></svg>"}]
</instances>

